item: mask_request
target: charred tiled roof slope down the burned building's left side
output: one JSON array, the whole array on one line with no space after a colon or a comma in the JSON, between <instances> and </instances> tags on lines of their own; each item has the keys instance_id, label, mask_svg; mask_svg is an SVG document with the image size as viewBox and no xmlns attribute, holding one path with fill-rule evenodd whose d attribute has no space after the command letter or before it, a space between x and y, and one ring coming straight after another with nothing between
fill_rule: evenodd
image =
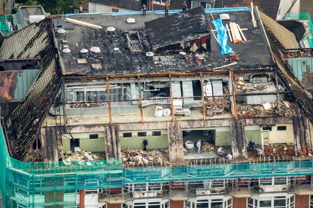
<instances>
[{"instance_id":1,"label":"charred tiled roof slope down the burned building's left side","mask_svg":"<svg viewBox=\"0 0 313 208\"><path fill-rule=\"evenodd\" d=\"M41 57L40 72L24 101L7 121L10 154L23 160L40 131L48 107L60 85L60 66L54 47L52 19L33 23L6 37L0 48L0 59ZM4 49L5 48L5 49Z\"/></svg>"}]
</instances>

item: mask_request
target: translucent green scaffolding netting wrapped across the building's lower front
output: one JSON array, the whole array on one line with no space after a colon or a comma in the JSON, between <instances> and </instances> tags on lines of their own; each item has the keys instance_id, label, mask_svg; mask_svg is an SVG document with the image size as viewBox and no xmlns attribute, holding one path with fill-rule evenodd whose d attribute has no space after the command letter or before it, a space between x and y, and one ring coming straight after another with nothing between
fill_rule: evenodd
<instances>
[{"instance_id":1,"label":"translucent green scaffolding netting wrapped across the building's lower front","mask_svg":"<svg viewBox=\"0 0 313 208\"><path fill-rule=\"evenodd\" d=\"M24 163L8 155L0 134L0 190L4 207L76 207L77 190L124 183L292 177L313 174L312 161L124 169L121 159Z\"/></svg>"}]
</instances>

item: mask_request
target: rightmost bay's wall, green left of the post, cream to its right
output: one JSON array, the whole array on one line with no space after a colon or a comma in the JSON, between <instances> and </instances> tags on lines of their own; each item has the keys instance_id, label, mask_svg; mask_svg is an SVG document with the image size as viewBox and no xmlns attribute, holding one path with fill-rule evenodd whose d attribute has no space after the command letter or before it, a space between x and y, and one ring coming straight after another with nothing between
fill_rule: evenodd
<instances>
[{"instance_id":1,"label":"rightmost bay's wall, green left of the post, cream to its right","mask_svg":"<svg viewBox=\"0 0 313 208\"><path fill-rule=\"evenodd\" d=\"M277 126L286 126L285 131L277 131ZM246 137L249 141L254 140L255 144L261 143L260 127L257 125L254 126L245 126ZM265 130L264 130L265 131ZM265 135L266 133L263 133ZM292 124L276 124L272 127L272 131L269 131L269 140L268 143L277 144L277 143L294 143L294 132Z\"/></svg>"}]
</instances>

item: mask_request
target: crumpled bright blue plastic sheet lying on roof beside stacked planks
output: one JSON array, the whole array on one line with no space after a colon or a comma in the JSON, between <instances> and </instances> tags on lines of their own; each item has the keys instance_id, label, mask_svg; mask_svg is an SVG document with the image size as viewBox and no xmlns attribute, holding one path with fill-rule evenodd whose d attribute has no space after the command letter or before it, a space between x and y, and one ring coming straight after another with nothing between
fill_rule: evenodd
<instances>
[{"instance_id":1,"label":"crumpled bright blue plastic sheet lying on roof beside stacked planks","mask_svg":"<svg viewBox=\"0 0 313 208\"><path fill-rule=\"evenodd\" d=\"M234 52L233 49L227 44L228 35L226 27L222 23L222 20L220 18L217 18L216 20L213 20L212 23L214 24L216 29L218 44L221 47L221 54L225 55Z\"/></svg>"}]
</instances>

